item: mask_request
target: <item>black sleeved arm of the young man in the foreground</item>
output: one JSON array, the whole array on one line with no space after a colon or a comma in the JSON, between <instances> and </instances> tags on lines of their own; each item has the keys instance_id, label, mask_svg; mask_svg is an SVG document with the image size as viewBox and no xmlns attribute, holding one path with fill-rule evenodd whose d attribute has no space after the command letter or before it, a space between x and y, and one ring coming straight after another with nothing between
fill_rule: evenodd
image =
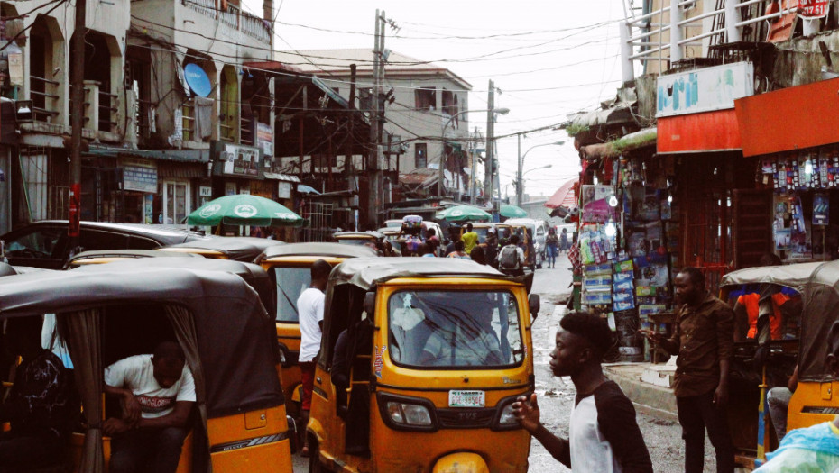
<instances>
[{"instance_id":1,"label":"black sleeved arm of the young man in the foreground","mask_svg":"<svg viewBox=\"0 0 839 473\"><path fill-rule=\"evenodd\" d=\"M635 408L617 386L604 385L595 391L597 428L612 446L614 458L624 473L652 473L652 461Z\"/></svg>"}]
</instances>

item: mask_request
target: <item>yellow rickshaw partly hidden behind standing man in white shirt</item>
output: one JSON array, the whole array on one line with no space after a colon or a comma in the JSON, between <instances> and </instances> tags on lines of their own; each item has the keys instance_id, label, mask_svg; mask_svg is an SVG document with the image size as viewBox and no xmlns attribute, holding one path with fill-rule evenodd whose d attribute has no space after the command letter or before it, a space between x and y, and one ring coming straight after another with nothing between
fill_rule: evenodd
<instances>
[{"instance_id":1,"label":"yellow rickshaw partly hidden behind standing man in white shirt","mask_svg":"<svg viewBox=\"0 0 839 473\"><path fill-rule=\"evenodd\" d=\"M282 388L290 414L300 409L300 324L297 298L311 284L312 263L324 259L335 266L348 258L369 258L376 252L366 246L339 243L290 243L263 251L256 264L263 267L276 287L277 341L282 359Z\"/></svg>"}]
</instances>

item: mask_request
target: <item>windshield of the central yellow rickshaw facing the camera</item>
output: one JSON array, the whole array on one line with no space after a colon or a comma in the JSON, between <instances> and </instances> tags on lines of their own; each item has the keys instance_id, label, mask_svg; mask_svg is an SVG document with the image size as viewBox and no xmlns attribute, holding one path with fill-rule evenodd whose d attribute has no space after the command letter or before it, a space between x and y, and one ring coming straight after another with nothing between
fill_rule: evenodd
<instances>
[{"instance_id":1,"label":"windshield of the central yellow rickshaw facing the camera","mask_svg":"<svg viewBox=\"0 0 839 473\"><path fill-rule=\"evenodd\" d=\"M399 365L494 368L524 359L519 309L507 291L401 291L388 317Z\"/></svg>"}]
</instances>

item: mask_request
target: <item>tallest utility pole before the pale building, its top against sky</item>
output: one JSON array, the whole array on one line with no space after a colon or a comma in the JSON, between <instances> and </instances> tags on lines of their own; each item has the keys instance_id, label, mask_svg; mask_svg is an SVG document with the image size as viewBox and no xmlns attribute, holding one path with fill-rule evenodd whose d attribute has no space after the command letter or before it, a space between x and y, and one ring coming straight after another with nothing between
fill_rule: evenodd
<instances>
[{"instance_id":1,"label":"tallest utility pole before the pale building, its top against sky","mask_svg":"<svg viewBox=\"0 0 839 473\"><path fill-rule=\"evenodd\" d=\"M384 12L376 10L376 33L373 47L373 91L371 94L370 116L370 150L367 153L367 188L369 198L367 199L367 224L375 226L379 220L379 206L382 195L379 192L379 181L381 174L379 170L379 121L381 120L379 101L381 92L380 77L382 68L382 52L384 50L384 25L382 17Z\"/></svg>"}]
</instances>

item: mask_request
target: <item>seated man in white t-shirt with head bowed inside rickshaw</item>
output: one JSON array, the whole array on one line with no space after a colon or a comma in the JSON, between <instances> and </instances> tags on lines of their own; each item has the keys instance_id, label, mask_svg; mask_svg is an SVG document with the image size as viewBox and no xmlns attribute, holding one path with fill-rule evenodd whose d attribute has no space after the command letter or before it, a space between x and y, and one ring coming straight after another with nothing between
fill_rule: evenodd
<instances>
[{"instance_id":1,"label":"seated man in white t-shirt with head bowed inside rickshaw","mask_svg":"<svg viewBox=\"0 0 839 473\"><path fill-rule=\"evenodd\" d=\"M110 472L174 473L195 404L195 382L178 343L163 341L153 355L107 367L105 393L119 397L123 407L121 418L102 425L113 437Z\"/></svg>"}]
</instances>

